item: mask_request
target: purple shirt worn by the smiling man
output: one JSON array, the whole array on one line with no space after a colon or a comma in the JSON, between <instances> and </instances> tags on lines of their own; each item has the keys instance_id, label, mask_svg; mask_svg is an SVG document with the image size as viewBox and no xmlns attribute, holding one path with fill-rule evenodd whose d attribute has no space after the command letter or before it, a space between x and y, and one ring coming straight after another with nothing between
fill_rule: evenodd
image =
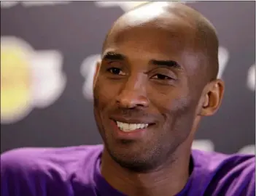
<instances>
[{"instance_id":1,"label":"purple shirt worn by the smiling man","mask_svg":"<svg viewBox=\"0 0 256 196\"><path fill-rule=\"evenodd\" d=\"M1 196L121 196L101 176L102 145L21 148L1 155ZM254 196L255 156L192 151L179 196Z\"/></svg>"}]
</instances>

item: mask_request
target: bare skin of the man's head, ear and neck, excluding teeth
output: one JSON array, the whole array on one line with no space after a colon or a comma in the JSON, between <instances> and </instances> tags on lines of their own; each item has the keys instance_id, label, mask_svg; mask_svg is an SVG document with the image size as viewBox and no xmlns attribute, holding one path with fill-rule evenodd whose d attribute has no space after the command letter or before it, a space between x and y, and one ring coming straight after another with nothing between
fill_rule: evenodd
<instances>
[{"instance_id":1,"label":"bare skin of the man's head, ear and neck, excluding teeth","mask_svg":"<svg viewBox=\"0 0 256 196\"><path fill-rule=\"evenodd\" d=\"M101 173L112 187L134 196L176 195L185 187L195 131L222 100L217 49L212 25L184 4L150 3L116 21L93 83ZM150 126L123 139L113 120Z\"/></svg>"}]
</instances>

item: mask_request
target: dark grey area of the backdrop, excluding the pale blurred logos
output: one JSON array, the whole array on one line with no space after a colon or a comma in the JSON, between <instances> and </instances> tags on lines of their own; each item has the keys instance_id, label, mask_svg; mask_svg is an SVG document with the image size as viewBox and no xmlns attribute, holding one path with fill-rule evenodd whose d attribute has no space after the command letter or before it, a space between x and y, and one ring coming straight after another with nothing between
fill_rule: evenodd
<instances>
[{"instance_id":1,"label":"dark grey area of the backdrop, excluding the pale blurred logos","mask_svg":"<svg viewBox=\"0 0 256 196\"><path fill-rule=\"evenodd\" d=\"M188 4L212 21L220 46L228 52L228 62L221 75L226 87L222 107L216 115L203 120L196 141L204 143L194 147L207 150L207 145L214 145L208 150L238 152L255 144L255 87L250 89L247 82L249 68L254 65L255 71L255 1ZM1 120L1 152L28 146L101 143L90 95L85 97L82 90L93 65L90 62L83 68L83 72L88 72L86 77L81 73L81 66L86 58L101 52L107 30L124 9L118 5L103 7L93 1L44 5L1 2L1 39L19 38L39 54L45 50L58 51L66 75L65 88L51 104L36 107L36 102L30 103L32 97L28 105L33 107L28 115L8 122Z\"/></svg>"}]
</instances>

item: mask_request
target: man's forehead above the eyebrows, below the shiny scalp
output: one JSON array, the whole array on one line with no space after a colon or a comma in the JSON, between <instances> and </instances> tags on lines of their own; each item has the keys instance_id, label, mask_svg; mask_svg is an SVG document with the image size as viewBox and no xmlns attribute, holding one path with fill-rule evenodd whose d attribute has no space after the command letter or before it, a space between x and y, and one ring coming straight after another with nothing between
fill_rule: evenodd
<instances>
[{"instance_id":1,"label":"man's forehead above the eyebrows, below the shiny scalp","mask_svg":"<svg viewBox=\"0 0 256 196\"><path fill-rule=\"evenodd\" d=\"M132 60L175 60L185 66L195 55L195 32L179 21L168 23L154 20L131 25L123 21L112 28L104 53L117 52Z\"/></svg>"}]
</instances>

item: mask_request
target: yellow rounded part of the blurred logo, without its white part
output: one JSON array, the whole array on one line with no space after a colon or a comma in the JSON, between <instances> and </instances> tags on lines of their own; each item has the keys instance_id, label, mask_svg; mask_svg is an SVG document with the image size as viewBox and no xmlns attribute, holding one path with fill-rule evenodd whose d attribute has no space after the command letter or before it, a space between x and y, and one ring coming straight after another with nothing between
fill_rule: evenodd
<instances>
[{"instance_id":1,"label":"yellow rounded part of the blurred logo, without its white part","mask_svg":"<svg viewBox=\"0 0 256 196\"><path fill-rule=\"evenodd\" d=\"M31 69L19 46L1 44L1 118L28 109L31 96Z\"/></svg>"}]
</instances>

